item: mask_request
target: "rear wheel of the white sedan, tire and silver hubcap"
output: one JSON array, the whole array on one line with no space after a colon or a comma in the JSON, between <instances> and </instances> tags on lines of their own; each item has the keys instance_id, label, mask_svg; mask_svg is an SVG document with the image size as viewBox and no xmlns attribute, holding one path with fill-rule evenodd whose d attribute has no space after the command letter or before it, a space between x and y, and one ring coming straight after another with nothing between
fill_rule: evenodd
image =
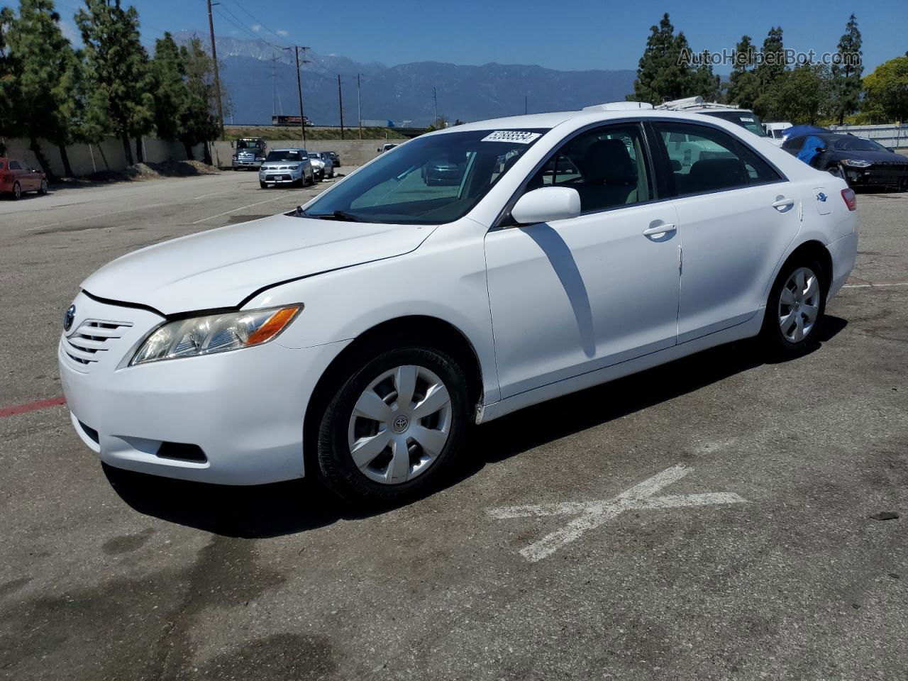
<instances>
[{"instance_id":1,"label":"rear wheel of the white sedan, tire and silver hubcap","mask_svg":"<svg viewBox=\"0 0 908 681\"><path fill-rule=\"evenodd\" d=\"M794 359L819 344L827 291L826 273L816 259L802 256L785 262L769 291L760 332L771 359Z\"/></svg>"}]
</instances>

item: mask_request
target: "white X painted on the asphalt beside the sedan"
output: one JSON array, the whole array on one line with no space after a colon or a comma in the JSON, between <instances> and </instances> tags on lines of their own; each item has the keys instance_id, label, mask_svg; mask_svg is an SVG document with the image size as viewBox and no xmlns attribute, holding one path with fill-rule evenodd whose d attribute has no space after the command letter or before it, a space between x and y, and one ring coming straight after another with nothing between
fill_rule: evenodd
<instances>
[{"instance_id":1,"label":"white X painted on the asphalt beside the sedan","mask_svg":"<svg viewBox=\"0 0 908 681\"><path fill-rule=\"evenodd\" d=\"M546 516L578 516L564 528L560 528L519 553L531 563L547 558L559 548L580 538L585 532L605 525L626 510L643 510L646 508L685 508L695 506L714 506L724 504L742 504L746 499L734 492L708 492L706 494L681 494L656 497L657 492L684 478L694 469L681 464L665 469L652 478L627 489L615 498L600 501L568 501L560 504L537 504L528 506L510 506L492 508L489 516L497 520L509 518L542 518Z\"/></svg>"}]
</instances>

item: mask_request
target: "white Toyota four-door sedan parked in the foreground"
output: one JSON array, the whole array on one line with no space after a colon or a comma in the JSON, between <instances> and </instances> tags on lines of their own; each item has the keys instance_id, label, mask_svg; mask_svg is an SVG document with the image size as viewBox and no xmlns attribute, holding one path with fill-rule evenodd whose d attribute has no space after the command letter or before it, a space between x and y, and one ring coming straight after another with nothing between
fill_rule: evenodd
<instances>
[{"instance_id":1,"label":"white Toyota four-door sedan parked in the foreground","mask_svg":"<svg viewBox=\"0 0 908 681\"><path fill-rule=\"evenodd\" d=\"M94 272L60 372L111 466L387 501L469 455L471 424L729 341L803 353L856 245L844 181L735 123L469 123Z\"/></svg>"}]
</instances>

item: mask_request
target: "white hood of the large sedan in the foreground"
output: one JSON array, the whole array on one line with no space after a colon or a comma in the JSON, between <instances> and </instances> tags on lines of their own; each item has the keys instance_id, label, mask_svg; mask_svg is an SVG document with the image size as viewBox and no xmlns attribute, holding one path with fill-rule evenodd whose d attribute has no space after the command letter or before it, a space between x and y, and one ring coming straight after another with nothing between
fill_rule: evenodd
<instances>
[{"instance_id":1,"label":"white hood of the large sedan in the foreground","mask_svg":"<svg viewBox=\"0 0 908 681\"><path fill-rule=\"evenodd\" d=\"M82 288L163 314L235 307L277 282L411 252L434 229L274 215L129 253Z\"/></svg>"}]
</instances>

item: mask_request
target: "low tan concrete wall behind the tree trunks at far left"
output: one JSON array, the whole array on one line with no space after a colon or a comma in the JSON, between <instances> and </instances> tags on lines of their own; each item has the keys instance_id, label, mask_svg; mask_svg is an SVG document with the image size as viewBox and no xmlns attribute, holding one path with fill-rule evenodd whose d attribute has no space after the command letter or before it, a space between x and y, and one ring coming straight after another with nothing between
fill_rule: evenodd
<instances>
[{"instance_id":1,"label":"low tan concrete wall behind the tree trunks at far left","mask_svg":"<svg viewBox=\"0 0 908 681\"><path fill-rule=\"evenodd\" d=\"M38 160L35 154L28 149L28 140L5 139L6 155L9 158L25 161L29 165L37 168ZM171 143L164 140L158 140L153 137L143 137L145 147L145 160L152 163L162 163L163 161L185 161L186 152L182 143ZM133 160L135 158L135 141L130 140L133 150ZM51 164L54 173L63 175L63 162L60 160L60 152L56 145L41 140L41 149L44 156ZM98 171L112 170L114 172L122 171L126 163L126 155L123 153L123 143L114 138L107 137L100 144L70 144L66 147L66 153L69 156L69 163L73 168L73 173L77 176L90 175ZM202 145L197 145L192 153L197 160L202 160ZM106 160L106 163L104 161Z\"/></svg>"}]
</instances>

